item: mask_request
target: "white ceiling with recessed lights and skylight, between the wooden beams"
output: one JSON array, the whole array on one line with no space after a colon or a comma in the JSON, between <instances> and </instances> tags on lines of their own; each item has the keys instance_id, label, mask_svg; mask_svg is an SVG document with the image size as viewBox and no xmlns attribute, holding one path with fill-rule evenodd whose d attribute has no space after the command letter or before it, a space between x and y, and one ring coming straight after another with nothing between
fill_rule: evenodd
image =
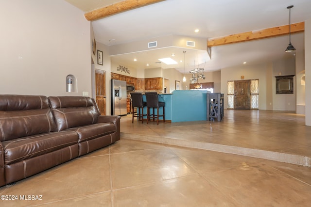
<instances>
[{"instance_id":1,"label":"white ceiling with recessed lights and skylight, between the wooden beams","mask_svg":"<svg viewBox=\"0 0 311 207\"><path fill-rule=\"evenodd\" d=\"M121 0L66 0L81 10L88 12ZM170 34L195 38L214 38L235 33L256 31L303 22L311 18L311 0L164 0L127 12L108 16L92 22L95 39L107 46L149 40ZM194 30L200 32L195 33ZM111 41L114 39L114 41ZM296 52L304 51L304 32L292 34L291 42ZM189 48L160 48L137 51L130 54L111 56L127 67L135 68L176 68L184 71L184 63L167 66L155 64L159 58L170 57L184 60L186 73L194 67L204 67L205 71L247 64L265 63L294 53L285 53L289 35L256 41L212 47L211 60L206 50ZM136 58L138 61L134 62ZM150 66L146 66L149 63Z\"/></svg>"}]
</instances>

